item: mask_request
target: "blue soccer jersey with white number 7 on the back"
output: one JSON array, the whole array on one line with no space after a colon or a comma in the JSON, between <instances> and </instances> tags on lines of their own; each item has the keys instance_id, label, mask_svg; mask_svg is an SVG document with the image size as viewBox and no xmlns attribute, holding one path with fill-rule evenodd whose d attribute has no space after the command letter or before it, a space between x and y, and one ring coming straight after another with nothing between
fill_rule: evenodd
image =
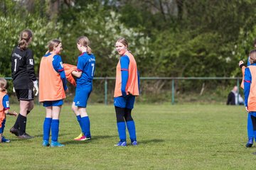
<instances>
[{"instance_id":1,"label":"blue soccer jersey with white number 7 on the back","mask_svg":"<svg viewBox=\"0 0 256 170\"><path fill-rule=\"evenodd\" d=\"M83 52L82 55L78 57L77 69L79 72L82 72L81 77L77 79L77 86L80 87L92 84L92 79L95 74L95 56Z\"/></svg>"}]
</instances>

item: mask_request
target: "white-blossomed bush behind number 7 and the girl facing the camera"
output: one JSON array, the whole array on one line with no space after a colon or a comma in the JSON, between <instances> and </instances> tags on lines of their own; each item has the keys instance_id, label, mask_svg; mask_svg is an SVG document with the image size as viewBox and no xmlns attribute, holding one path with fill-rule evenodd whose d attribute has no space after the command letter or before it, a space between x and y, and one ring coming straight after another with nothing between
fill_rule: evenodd
<instances>
[{"instance_id":1,"label":"white-blossomed bush behind number 7 and the girl facing the camera","mask_svg":"<svg viewBox=\"0 0 256 170\"><path fill-rule=\"evenodd\" d=\"M82 10L81 10L82 8ZM97 69L96 77L114 76L117 54L114 49L118 38L129 41L130 50L137 58L145 58L149 49L145 46L149 38L135 28L127 28L119 21L120 15L115 11L104 11L99 4L88 4L71 8L72 16L65 18L60 35L63 38L65 62L76 64L79 52L76 39L82 35L90 39L92 52L95 53ZM65 20L64 20L65 18Z\"/></svg>"}]
</instances>

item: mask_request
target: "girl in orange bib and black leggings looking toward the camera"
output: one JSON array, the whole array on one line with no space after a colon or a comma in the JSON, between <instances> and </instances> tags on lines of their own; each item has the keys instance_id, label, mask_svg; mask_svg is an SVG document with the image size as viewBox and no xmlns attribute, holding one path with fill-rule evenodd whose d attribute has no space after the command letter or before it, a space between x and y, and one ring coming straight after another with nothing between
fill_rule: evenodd
<instances>
[{"instance_id":1,"label":"girl in orange bib and black leggings looking toward the camera","mask_svg":"<svg viewBox=\"0 0 256 170\"><path fill-rule=\"evenodd\" d=\"M119 38L115 44L120 55L116 69L116 82L114 88L114 108L117 116L117 130L119 142L114 146L126 147L126 127L132 145L137 145L135 123L132 119L135 96L139 96L139 73L134 56L129 52L128 42Z\"/></svg>"}]
</instances>

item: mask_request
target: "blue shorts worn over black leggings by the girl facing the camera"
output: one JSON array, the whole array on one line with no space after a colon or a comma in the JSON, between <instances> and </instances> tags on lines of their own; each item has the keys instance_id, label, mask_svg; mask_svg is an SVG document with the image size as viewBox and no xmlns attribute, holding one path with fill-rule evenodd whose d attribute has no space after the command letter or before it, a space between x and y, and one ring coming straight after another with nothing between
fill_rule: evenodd
<instances>
[{"instance_id":1,"label":"blue shorts worn over black leggings by the girl facing the camera","mask_svg":"<svg viewBox=\"0 0 256 170\"><path fill-rule=\"evenodd\" d=\"M114 106L119 108L134 108L135 96L128 96L124 98L123 96L114 98Z\"/></svg>"}]
</instances>

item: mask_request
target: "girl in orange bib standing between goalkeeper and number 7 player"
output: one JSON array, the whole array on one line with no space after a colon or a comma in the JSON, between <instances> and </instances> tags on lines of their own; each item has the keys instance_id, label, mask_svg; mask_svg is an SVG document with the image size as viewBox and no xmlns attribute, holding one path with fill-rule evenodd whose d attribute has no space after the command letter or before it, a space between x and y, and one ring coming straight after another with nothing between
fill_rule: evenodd
<instances>
[{"instance_id":1,"label":"girl in orange bib standing between goalkeeper and number 7 player","mask_svg":"<svg viewBox=\"0 0 256 170\"><path fill-rule=\"evenodd\" d=\"M39 70L39 101L46 108L46 118L43 123L43 146L63 147L58 142L59 116L65 92L68 92L67 80L60 57L62 50L60 40L50 40L48 53L40 62ZM51 130L51 142L49 144Z\"/></svg>"}]
</instances>

